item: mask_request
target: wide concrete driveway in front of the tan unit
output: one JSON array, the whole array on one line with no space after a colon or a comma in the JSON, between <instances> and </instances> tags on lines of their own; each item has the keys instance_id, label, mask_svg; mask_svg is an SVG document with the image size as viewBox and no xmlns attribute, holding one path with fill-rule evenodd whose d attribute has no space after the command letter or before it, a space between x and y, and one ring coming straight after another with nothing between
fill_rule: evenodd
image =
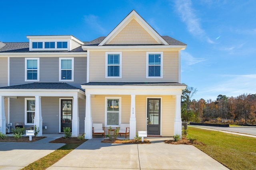
<instances>
[{"instance_id":1,"label":"wide concrete driveway in front of the tan unit","mask_svg":"<svg viewBox=\"0 0 256 170\"><path fill-rule=\"evenodd\" d=\"M158 140L140 145L100 141L86 141L48 170L228 170L192 145L168 145Z\"/></svg>"}]
</instances>

